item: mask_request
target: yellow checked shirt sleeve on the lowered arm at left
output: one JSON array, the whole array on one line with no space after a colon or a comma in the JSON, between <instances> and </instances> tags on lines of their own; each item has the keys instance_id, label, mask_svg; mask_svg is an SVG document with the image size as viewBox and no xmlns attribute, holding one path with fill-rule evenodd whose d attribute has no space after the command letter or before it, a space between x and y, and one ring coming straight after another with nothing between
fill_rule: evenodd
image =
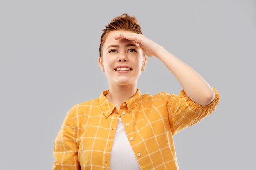
<instances>
[{"instance_id":1,"label":"yellow checked shirt sleeve on the lowered arm at left","mask_svg":"<svg viewBox=\"0 0 256 170\"><path fill-rule=\"evenodd\" d=\"M77 156L78 146L76 128L72 121L72 108L67 112L54 140L53 156L55 161L52 170L81 170Z\"/></svg>"}]
</instances>

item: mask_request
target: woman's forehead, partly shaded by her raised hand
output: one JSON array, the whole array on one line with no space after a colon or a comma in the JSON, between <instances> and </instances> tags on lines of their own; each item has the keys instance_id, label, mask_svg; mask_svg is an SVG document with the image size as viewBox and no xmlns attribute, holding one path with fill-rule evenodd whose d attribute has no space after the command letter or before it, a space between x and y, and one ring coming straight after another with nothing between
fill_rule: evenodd
<instances>
[{"instance_id":1,"label":"woman's forehead, partly shaded by her raised hand","mask_svg":"<svg viewBox=\"0 0 256 170\"><path fill-rule=\"evenodd\" d=\"M114 38L115 35L119 35L119 34L125 34L125 33L132 33L131 31L121 31L121 30L115 30L115 31L111 31L110 33L108 33L106 39L105 39L105 47L108 45L112 45L112 44L126 44L126 43L131 43L134 44L135 42L132 40L128 40L126 38L119 38L118 40L116 40ZM135 43L136 44L136 43Z\"/></svg>"}]
</instances>

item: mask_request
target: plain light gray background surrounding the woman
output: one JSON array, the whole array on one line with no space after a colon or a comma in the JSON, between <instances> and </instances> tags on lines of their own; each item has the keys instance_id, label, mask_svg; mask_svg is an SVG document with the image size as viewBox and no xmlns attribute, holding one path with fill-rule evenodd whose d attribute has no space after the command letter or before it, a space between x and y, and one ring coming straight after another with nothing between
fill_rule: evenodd
<instances>
[{"instance_id":1,"label":"plain light gray background surrounding the woman","mask_svg":"<svg viewBox=\"0 0 256 170\"><path fill-rule=\"evenodd\" d=\"M255 9L255 0L1 1L0 169L52 169L67 111L108 89L99 42L123 13L220 93L214 113L173 136L180 170L255 168ZM182 86L148 57L137 88Z\"/></svg>"}]
</instances>

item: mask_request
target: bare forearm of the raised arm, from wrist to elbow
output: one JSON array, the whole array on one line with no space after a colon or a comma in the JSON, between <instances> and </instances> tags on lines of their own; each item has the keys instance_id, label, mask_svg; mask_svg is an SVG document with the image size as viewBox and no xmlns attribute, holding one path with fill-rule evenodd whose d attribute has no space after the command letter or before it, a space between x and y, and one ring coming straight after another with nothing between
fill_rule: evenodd
<instances>
[{"instance_id":1,"label":"bare forearm of the raised arm, from wrist to elbow","mask_svg":"<svg viewBox=\"0 0 256 170\"><path fill-rule=\"evenodd\" d=\"M180 82L186 95L196 104L209 104L215 97L211 86L190 66L169 53L164 47L156 55Z\"/></svg>"}]
</instances>

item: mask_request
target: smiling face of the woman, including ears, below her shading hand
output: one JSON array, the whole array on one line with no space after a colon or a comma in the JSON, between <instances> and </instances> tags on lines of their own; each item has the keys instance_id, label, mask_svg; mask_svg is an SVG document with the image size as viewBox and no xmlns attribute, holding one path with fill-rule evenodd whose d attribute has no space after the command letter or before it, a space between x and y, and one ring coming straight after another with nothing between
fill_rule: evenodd
<instances>
[{"instance_id":1,"label":"smiling face of the woman, including ears, below her shading hand","mask_svg":"<svg viewBox=\"0 0 256 170\"><path fill-rule=\"evenodd\" d=\"M106 35L106 41L102 48L102 56L99 57L99 66L104 68L108 81L118 85L137 84L143 66L146 66L147 58L143 57L143 51L139 44L133 40L121 38L116 40L115 35L130 31L111 31ZM114 46L113 46L114 45ZM132 68L130 71L120 73L115 70L117 66L126 65Z\"/></svg>"}]
</instances>

